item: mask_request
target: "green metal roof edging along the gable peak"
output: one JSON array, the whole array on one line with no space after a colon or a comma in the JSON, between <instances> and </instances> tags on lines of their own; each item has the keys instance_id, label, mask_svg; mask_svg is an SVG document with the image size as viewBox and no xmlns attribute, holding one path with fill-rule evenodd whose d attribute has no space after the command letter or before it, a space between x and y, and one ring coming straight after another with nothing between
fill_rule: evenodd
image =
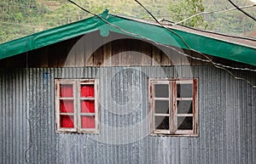
<instances>
[{"instance_id":1,"label":"green metal roof edging along the gable peak","mask_svg":"<svg viewBox=\"0 0 256 164\"><path fill-rule=\"evenodd\" d=\"M47 31L34 33L27 37L4 42L0 44L0 59L78 37L91 31L101 31L102 36L108 36L109 31L114 31L132 37L146 38L161 44L188 49L183 41L172 33L174 31L183 38L190 48L203 54L256 65L255 41L247 44L246 41L242 41L241 39L239 42L236 42L236 39L230 40L229 37L216 37L216 35L207 35L207 32L199 33L189 31L186 28L172 26L168 26L172 30L168 31L166 28L157 24L108 14L108 10L103 14L99 14L99 16L107 20L109 24L99 17L93 16L72 24L61 25Z\"/></svg>"}]
</instances>

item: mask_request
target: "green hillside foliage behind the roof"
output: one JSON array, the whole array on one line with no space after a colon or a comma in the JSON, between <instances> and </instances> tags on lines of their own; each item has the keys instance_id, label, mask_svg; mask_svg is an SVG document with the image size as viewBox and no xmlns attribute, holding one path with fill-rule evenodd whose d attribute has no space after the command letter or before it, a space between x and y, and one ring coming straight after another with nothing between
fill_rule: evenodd
<instances>
[{"instance_id":1,"label":"green hillside foliage behind the roof","mask_svg":"<svg viewBox=\"0 0 256 164\"><path fill-rule=\"evenodd\" d=\"M137 18L151 19L151 16L133 0L73 1L96 14L100 14L108 8L112 14L125 14ZM232 8L230 3L221 0L139 1L156 18L166 18L175 22L202 11ZM248 4L249 1L234 0L234 2L242 6ZM247 9L246 11L256 17L256 13L253 12L255 8ZM92 15L75 7L67 0L1 0L0 42L7 42L57 25L65 25L73 21L82 20L89 16ZM245 36L250 36L253 31L256 31L256 23L237 11L196 16L191 20L185 21L183 25Z\"/></svg>"}]
</instances>

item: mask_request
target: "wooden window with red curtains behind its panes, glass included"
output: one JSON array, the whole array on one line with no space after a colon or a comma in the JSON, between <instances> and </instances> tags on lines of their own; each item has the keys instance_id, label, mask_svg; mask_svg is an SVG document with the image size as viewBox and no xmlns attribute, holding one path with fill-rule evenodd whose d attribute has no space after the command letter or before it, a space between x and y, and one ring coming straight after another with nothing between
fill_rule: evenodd
<instances>
[{"instance_id":1,"label":"wooden window with red curtains behind its panes, glass included","mask_svg":"<svg viewBox=\"0 0 256 164\"><path fill-rule=\"evenodd\" d=\"M55 79L56 132L99 133L97 79Z\"/></svg>"}]
</instances>

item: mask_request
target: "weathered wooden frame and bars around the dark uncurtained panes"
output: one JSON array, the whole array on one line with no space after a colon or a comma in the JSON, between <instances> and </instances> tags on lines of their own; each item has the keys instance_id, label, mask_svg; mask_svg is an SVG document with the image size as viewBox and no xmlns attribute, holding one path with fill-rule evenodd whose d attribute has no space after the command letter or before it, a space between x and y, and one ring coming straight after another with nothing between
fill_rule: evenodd
<instances>
[{"instance_id":1,"label":"weathered wooden frame and bars around the dark uncurtained panes","mask_svg":"<svg viewBox=\"0 0 256 164\"><path fill-rule=\"evenodd\" d=\"M168 84L169 97L156 98L155 84ZM192 98L177 98L177 84L192 84ZM198 109L198 79L148 79L149 93L149 127L151 135L170 135L170 136L199 136L199 109ZM155 112L155 100L169 101L169 114L159 114ZM192 100L192 114L177 114L177 100ZM156 129L155 116L169 116L169 129ZM177 129L177 116L193 116L192 130Z\"/></svg>"}]
</instances>

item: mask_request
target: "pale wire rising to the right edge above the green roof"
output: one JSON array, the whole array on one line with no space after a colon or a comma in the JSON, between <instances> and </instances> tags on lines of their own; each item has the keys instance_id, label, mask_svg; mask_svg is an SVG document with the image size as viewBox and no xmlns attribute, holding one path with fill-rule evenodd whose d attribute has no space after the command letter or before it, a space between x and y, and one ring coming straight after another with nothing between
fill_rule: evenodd
<instances>
[{"instance_id":1,"label":"pale wire rising to the right edge above the green roof","mask_svg":"<svg viewBox=\"0 0 256 164\"><path fill-rule=\"evenodd\" d=\"M253 8L253 7L256 7L256 4L252 4L252 5L248 5L248 6L241 6L241 7L238 7L238 8ZM222 10L218 10L218 11L208 11L208 12L204 11L204 12L201 12L201 13L193 14L193 15L189 16L188 18L184 19L184 20L180 20L180 21L178 21L176 23L173 23L172 25L181 24L181 23L183 23L186 20L190 20L190 19L194 18L195 16L199 16L199 15L202 15L202 14L224 13L224 12L236 10L238 8L228 8L228 9L222 9Z\"/></svg>"}]
</instances>

